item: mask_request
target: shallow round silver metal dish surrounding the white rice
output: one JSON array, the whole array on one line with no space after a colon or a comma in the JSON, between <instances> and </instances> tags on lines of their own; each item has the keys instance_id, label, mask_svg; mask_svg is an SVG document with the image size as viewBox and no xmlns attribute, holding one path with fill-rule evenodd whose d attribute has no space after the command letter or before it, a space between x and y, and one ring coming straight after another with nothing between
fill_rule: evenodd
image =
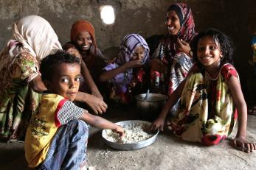
<instances>
[{"instance_id":1,"label":"shallow round silver metal dish surrounding the white rice","mask_svg":"<svg viewBox=\"0 0 256 170\"><path fill-rule=\"evenodd\" d=\"M117 122L116 124L123 127L126 124L134 124L134 123L147 124L148 127L151 126L151 122L139 121L139 120L120 121L120 122ZM108 141L106 139L106 137L107 137L106 130L103 130L101 135L103 137L103 141L105 141L105 144L108 144L108 146L111 146L111 148L119 149L119 150L134 150L134 149L140 149L140 148L143 148L143 147L146 147L146 146L149 146L149 145L153 144L153 142L156 141L156 136L158 135L158 133L159 133L159 130L156 130L156 132L153 132L154 135L151 138L148 138L145 141L139 141L139 142L134 143L134 144L117 144L117 143Z\"/></svg>"}]
</instances>

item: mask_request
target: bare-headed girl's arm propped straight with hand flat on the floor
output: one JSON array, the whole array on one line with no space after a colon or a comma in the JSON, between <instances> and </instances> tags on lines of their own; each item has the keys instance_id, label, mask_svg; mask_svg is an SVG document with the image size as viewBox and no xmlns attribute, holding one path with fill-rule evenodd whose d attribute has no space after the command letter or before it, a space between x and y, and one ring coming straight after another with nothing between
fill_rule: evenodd
<instances>
[{"instance_id":1,"label":"bare-headed girl's arm propped straight with hand flat on the floor","mask_svg":"<svg viewBox=\"0 0 256 170\"><path fill-rule=\"evenodd\" d=\"M247 107L240 82L237 77L230 77L228 85L235 102L235 107L238 109L238 132L233 139L233 146L244 152L253 152L256 149L256 145L246 141Z\"/></svg>"}]
</instances>

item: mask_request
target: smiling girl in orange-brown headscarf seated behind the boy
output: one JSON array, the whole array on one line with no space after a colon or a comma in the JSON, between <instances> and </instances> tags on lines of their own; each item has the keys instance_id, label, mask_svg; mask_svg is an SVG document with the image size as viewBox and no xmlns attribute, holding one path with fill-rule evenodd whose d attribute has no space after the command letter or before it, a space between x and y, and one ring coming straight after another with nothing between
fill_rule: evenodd
<instances>
[{"instance_id":1,"label":"smiling girl in orange-brown headscarf seated behind the boy","mask_svg":"<svg viewBox=\"0 0 256 170\"><path fill-rule=\"evenodd\" d=\"M89 21L78 20L72 25L70 32L69 43L66 43L64 46L69 46L73 44L76 49L80 52L83 62L87 68L83 68L82 64L82 73L83 70L89 70L92 79L86 77L86 85L81 84L83 91L90 92L92 95L97 96L103 99L99 87L99 79L103 67L107 64L107 61L103 57L103 54L100 52L100 49L97 49L97 44L94 35L94 26ZM83 63L82 62L82 63ZM95 85L96 84L96 85Z\"/></svg>"}]
</instances>

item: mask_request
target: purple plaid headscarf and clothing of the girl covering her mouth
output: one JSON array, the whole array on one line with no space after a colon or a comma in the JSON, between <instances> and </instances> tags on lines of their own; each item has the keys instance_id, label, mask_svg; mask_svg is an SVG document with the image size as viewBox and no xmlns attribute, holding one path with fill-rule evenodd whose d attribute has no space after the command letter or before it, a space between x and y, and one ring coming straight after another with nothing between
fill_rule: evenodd
<instances>
[{"instance_id":1,"label":"purple plaid headscarf and clothing of the girl covering her mouth","mask_svg":"<svg viewBox=\"0 0 256 170\"><path fill-rule=\"evenodd\" d=\"M113 70L120 65L124 65L131 60L131 57L134 55L136 47L142 46L145 49L145 57L142 60L143 65L148 60L149 48L148 43L142 38L141 35L131 34L126 35L123 38L122 43L120 44L120 54L114 59L114 61L103 68L105 71ZM115 95L111 98L115 98L116 94L123 95L125 92L129 91L129 87L134 88L137 82L142 82L142 77L145 74L145 71L142 69L128 68L120 74L117 74L110 82L114 85ZM130 88L130 90L131 90ZM113 93L112 93L113 95Z\"/></svg>"}]
</instances>

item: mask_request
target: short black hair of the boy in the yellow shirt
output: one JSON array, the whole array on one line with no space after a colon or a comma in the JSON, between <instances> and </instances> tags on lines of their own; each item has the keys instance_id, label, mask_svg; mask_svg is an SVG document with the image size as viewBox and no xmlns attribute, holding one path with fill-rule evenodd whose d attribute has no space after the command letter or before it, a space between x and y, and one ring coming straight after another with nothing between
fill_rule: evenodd
<instances>
[{"instance_id":1,"label":"short black hair of the boy in the yellow shirt","mask_svg":"<svg viewBox=\"0 0 256 170\"><path fill-rule=\"evenodd\" d=\"M41 60L40 72L42 80L52 80L52 76L60 63L77 63L80 65L80 59L72 56L71 54L60 50L55 54L49 54Z\"/></svg>"}]
</instances>

